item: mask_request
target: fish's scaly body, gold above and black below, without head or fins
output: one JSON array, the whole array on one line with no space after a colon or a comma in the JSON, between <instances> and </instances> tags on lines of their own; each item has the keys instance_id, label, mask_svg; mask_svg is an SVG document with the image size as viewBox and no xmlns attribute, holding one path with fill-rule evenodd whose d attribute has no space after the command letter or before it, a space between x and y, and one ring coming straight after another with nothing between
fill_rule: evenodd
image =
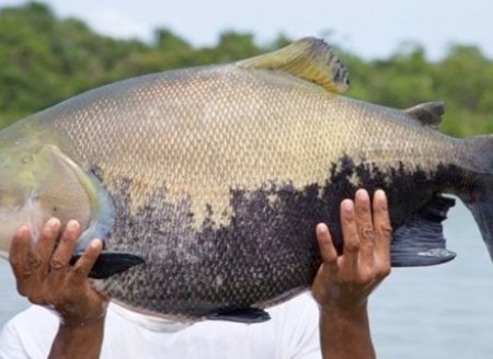
<instances>
[{"instance_id":1,"label":"fish's scaly body, gold above and black below, without head or fins","mask_svg":"<svg viewBox=\"0 0 493 359\"><path fill-rule=\"evenodd\" d=\"M112 198L105 247L146 263L94 287L191 320L309 288L321 263L314 227L326 222L341 247L339 204L359 187L387 192L398 229L436 194L481 197L493 173L471 139L236 65L92 90L3 130L2 151L19 150L13 139L56 146Z\"/></svg>"}]
</instances>

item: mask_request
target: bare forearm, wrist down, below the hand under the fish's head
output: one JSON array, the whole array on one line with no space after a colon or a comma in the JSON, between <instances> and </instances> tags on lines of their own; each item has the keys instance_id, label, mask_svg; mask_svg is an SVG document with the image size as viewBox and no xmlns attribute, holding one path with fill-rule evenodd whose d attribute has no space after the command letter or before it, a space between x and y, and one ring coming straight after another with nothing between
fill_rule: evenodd
<instances>
[{"instance_id":1,"label":"bare forearm, wrist down, below the hand under the fish's head","mask_svg":"<svg viewBox=\"0 0 493 359\"><path fill-rule=\"evenodd\" d=\"M103 345L103 334L104 317L80 326L60 324L51 345L49 358L99 358Z\"/></svg>"}]
</instances>

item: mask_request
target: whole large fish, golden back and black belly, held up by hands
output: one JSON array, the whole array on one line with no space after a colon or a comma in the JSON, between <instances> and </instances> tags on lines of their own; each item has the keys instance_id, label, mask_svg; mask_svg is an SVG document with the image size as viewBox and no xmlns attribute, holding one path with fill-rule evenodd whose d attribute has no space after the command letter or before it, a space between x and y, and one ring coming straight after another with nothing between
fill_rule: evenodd
<instances>
[{"instance_id":1,"label":"whole large fish, golden back and black belly, held up by hands","mask_svg":"<svg viewBox=\"0 0 493 359\"><path fill-rule=\"evenodd\" d=\"M0 250L20 224L36 239L48 218L76 218L74 255L104 239L91 274L104 294L158 315L243 322L310 286L314 227L329 223L341 248L339 205L358 187L388 194L392 265L454 258L443 193L471 209L492 254L493 137L447 137L440 103L388 108L342 96L347 84L328 45L305 38L32 115L0 134Z\"/></svg>"}]
</instances>

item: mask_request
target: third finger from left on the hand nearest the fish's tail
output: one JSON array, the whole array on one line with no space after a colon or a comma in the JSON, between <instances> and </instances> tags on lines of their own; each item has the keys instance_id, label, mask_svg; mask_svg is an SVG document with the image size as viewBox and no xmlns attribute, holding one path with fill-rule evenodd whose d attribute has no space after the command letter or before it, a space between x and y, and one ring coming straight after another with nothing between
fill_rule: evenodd
<instances>
[{"instance_id":1,"label":"third finger from left on the hand nearest the fish's tail","mask_svg":"<svg viewBox=\"0 0 493 359\"><path fill-rule=\"evenodd\" d=\"M374 265L374 222L371 220L370 199L365 189L358 189L355 195L356 227L358 229L359 258L365 265Z\"/></svg>"}]
</instances>

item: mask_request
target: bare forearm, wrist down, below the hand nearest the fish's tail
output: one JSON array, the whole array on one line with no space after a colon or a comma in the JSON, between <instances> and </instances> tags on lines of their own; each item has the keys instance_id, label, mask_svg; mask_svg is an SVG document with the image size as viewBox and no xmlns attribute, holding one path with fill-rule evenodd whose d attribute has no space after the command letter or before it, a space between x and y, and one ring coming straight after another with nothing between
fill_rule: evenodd
<instances>
[{"instance_id":1,"label":"bare forearm, wrist down, below the hand nearest the fish's tail","mask_svg":"<svg viewBox=\"0 0 493 359\"><path fill-rule=\"evenodd\" d=\"M320 310L323 358L375 358L366 304L357 310Z\"/></svg>"}]
</instances>

